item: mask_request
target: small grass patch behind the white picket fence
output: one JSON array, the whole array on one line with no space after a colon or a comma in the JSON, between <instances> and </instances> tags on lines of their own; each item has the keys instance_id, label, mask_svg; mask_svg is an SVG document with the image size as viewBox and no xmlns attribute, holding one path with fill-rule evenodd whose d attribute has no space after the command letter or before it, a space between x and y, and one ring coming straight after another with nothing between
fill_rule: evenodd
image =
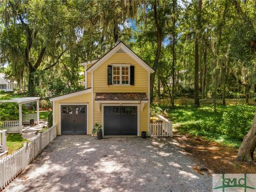
<instances>
[{"instance_id":1,"label":"small grass patch behind the white picket fence","mask_svg":"<svg viewBox=\"0 0 256 192\"><path fill-rule=\"evenodd\" d=\"M7 134L6 144L8 149L8 154L12 154L15 150L18 150L23 146L23 142L28 142L27 139L22 138L19 133Z\"/></svg>"}]
</instances>

